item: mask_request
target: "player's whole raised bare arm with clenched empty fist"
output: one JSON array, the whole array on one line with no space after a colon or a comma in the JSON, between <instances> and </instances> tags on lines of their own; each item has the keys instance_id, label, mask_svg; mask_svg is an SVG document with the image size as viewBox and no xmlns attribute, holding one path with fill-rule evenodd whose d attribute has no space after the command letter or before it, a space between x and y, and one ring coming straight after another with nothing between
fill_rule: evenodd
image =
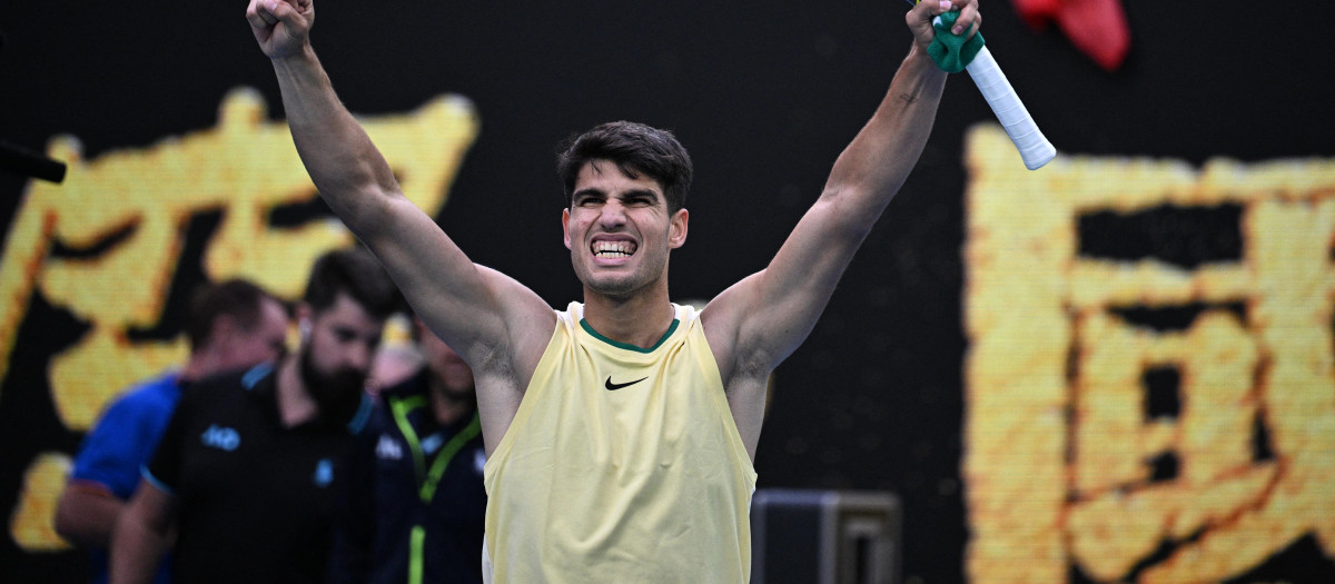
<instances>
[{"instance_id":1,"label":"player's whole raised bare arm with clenched empty fist","mask_svg":"<svg viewBox=\"0 0 1335 584\"><path fill-rule=\"evenodd\" d=\"M251 0L246 17L274 63L292 140L320 196L379 257L418 315L483 373L483 361L495 355L518 360L506 365L519 371L526 360L535 364L554 325L551 311L514 280L473 264L403 196L315 57L311 0ZM530 341L534 336L539 340Z\"/></svg>"}]
</instances>

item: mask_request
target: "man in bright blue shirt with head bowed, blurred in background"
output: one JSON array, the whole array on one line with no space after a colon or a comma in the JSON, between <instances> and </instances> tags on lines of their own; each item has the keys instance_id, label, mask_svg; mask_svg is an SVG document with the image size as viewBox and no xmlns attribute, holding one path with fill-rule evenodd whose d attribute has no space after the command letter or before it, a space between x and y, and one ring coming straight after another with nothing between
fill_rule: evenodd
<instances>
[{"instance_id":1,"label":"man in bright blue shirt with head bowed, blurred in background","mask_svg":"<svg viewBox=\"0 0 1335 584\"><path fill-rule=\"evenodd\" d=\"M190 359L121 393L84 437L56 507L56 532L85 548L92 581L107 581L112 525L139 484L171 419L182 388L206 376L243 369L283 355L288 316L282 301L246 280L204 284L186 315ZM164 561L158 583L168 583Z\"/></svg>"}]
</instances>

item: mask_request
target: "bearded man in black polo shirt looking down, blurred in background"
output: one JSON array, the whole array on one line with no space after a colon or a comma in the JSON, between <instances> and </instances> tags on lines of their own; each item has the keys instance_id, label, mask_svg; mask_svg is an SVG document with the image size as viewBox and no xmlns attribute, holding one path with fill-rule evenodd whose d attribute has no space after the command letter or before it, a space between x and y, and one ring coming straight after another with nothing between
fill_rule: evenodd
<instances>
[{"instance_id":1,"label":"bearded man in black polo shirt looking down, blurred in background","mask_svg":"<svg viewBox=\"0 0 1335 584\"><path fill-rule=\"evenodd\" d=\"M363 385L399 303L364 249L320 256L296 352L182 396L116 523L109 581L150 581L172 524L178 583L322 581L346 456L371 411Z\"/></svg>"}]
</instances>

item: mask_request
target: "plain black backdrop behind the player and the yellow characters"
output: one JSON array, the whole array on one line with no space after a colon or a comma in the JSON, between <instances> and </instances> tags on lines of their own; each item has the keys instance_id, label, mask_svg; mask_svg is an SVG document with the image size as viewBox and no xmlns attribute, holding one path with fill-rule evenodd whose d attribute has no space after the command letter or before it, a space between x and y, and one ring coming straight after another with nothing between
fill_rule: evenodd
<instances>
[{"instance_id":1,"label":"plain black backdrop behind the player and the yellow characters","mask_svg":"<svg viewBox=\"0 0 1335 584\"><path fill-rule=\"evenodd\" d=\"M1055 29L1028 29L1008 3L985 5L993 53L1061 152L1191 163L1335 155L1330 4L1127 4L1132 49L1115 73ZM701 299L762 268L818 195L908 48L905 8L322 0L314 39L356 113L407 111L445 92L474 101L481 135L439 223L477 261L553 305L579 292L561 244L555 144L613 119L673 128L697 180L672 292ZM41 149L72 133L92 159L214 125L238 85L260 89L280 117L243 9L4 3L0 139ZM924 581L964 577L961 143L991 119L968 79L952 79L918 168L821 324L778 369L757 456L761 488L896 492L906 508L904 575ZM23 189L0 176L0 224ZM198 277L183 265L179 279ZM45 313L41 304L35 296L29 320ZM40 344L13 359L40 359ZM5 505L39 445L72 452L79 439L31 436L27 404L40 400L21 381L11 376L0 392ZM3 581L77 581L81 569L75 553L28 555L0 539Z\"/></svg>"}]
</instances>

